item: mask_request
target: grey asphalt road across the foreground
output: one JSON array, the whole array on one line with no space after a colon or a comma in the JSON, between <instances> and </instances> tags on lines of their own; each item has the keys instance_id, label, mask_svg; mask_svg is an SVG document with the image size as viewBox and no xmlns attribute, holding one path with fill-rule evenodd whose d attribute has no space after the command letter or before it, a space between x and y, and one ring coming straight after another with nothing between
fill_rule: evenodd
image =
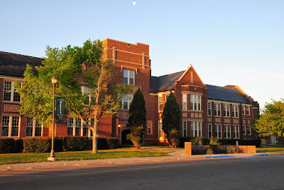
<instances>
[{"instance_id":1,"label":"grey asphalt road across the foreground","mask_svg":"<svg viewBox=\"0 0 284 190\"><path fill-rule=\"evenodd\" d=\"M284 156L0 171L0 189L284 189Z\"/></svg>"}]
</instances>

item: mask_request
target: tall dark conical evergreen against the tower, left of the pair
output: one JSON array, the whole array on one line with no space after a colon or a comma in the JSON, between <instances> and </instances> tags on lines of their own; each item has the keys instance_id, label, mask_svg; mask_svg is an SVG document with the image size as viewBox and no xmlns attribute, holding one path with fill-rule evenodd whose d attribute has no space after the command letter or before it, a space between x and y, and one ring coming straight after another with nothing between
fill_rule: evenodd
<instances>
[{"instance_id":1,"label":"tall dark conical evergreen against the tower, left of the pair","mask_svg":"<svg viewBox=\"0 0 284 190\"><path fill-rule=\"evenodd\" d=\"M132 104L129 108L129 118L127 127L130 134L127 134L127 139L132 141L134 146L139 149L143 143L143 134L146 126L146 108L145 100L140 88L136 90Z\"/></svg>"}]
</instances>

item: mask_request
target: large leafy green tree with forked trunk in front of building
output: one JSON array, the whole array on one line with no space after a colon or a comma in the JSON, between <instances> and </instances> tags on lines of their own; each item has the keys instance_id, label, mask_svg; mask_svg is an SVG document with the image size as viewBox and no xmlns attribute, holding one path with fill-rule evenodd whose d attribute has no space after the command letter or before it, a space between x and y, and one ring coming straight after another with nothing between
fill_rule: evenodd
<instances>
[{"instance_id":1,"label":"large leafy green tree with forked trunk in front of building","mask_svg":"<svg viewBox=\"0 0 284 190\"><path fill-rule=\"evenodd\" d=\"M34 74L31 65L27 65L22 87L16 84L17 92L22 96L19 112L23 116L33 116L49 127L52 121L51 79L55 76L58 79L56 95L65 97L68 116L80 118L92 130L93 153L96 154L97 123L102 116L118 113L118 98L128 93L129 86L108 88L115 63L103 60L100 40L87 40L83 47L47 47L46 56L42 66L36 67L38 74ZM93 126L89 125L90 118L94 119Z\"/></svg>"}]
</instances>

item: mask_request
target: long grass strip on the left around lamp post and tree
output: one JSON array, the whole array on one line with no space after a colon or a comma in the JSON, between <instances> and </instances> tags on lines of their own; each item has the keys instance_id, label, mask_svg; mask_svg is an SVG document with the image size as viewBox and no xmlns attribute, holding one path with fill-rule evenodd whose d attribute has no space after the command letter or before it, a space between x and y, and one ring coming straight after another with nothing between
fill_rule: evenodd
<instances>
[{"instance_id":1,"label":"long grass strip on the left around lamp post and tree","mask_svg":"<svg viewBox=\"0 0 284 190\"><path fill-rule=\"evenodd\" d=\"M90 150L77 152L55 152L58 161L87 160L87 159L116 159L130 157L165 157L171 150L158 150L155 148L118 148L112 150L99 150L98 154L90 154ZM0 155L0 165L47 161L50 153L15 153Z\"/></svg>"}]
</instances>

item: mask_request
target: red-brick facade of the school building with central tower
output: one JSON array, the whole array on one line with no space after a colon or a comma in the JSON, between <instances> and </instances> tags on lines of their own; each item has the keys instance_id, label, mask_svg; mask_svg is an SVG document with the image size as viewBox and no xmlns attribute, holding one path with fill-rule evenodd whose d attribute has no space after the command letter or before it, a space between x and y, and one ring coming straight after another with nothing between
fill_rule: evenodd
<instances>
[{"instance_id":1,"label":"red-brick facade of the school building with central tower","mask_svg":"<svg viewBox=\"0 0 284 190\"><path fill-rule=\"evenodd\" d=\"M247 130L246 133L243 132L243 127L248 129L248 127L253 126L253 120L258 116L258 104L254 102L251 97L248 97L240 88L237 88L237 86L220 87L220 89L225 91L235 90L234 93L243 95L242 98L247 100L245 104L242 103L242 101L230 102L230 100L222 100L222 98L214 100L210 94L212 92L212 87L203 84L203 81L200 79L192 65L182 72L167 74L161 77L152 77L149 45L145 45L143 43L131 44L127 42L120 42L118 40L111 40L109 38L103 40L102 44L104 47L104 58L116 62L116 67L114 68L114 72L116 74L113 77L111 84L125 85L127 80L127 83L133 80L131 84L129 84L129 86L133 89L133 93L131 94L133 95L139 87L142 90L147 111L147 127L144 135L145 145L166 145L168 143L166 141L165 134L159 130L159 125L161 125L159 100L162 103L161 109L164 109L166 96L171 92L174 93L182 112L182 123L180 125L182 136L208 137L210 135L209 133L211 133L212 136L215 136L214 126L221 125L221 137L223 138L223 127L224 125L229 125L230 138L234 138L234 136L232 136L233 126L239 126L239 138L258 138L252 128L250 129L250 132ZM2 53L5 54L6 52ZM36 61L42 61L42 59L40 60L39 58L10 53L6 53L5 56L20 56L21 58L28 57L31 60L35 60L35 64ZM125 79L124 73L128 74ZM17 136L10 136L9 134L9 136L13 138L22 138L26 136L26 118L19 116L19 112L17 111L19 108L19 102L3 101L4 81L15 81L16 79L22 80L19 76L7 76L0 73L0 124L2 126L3 116L19 117L19 134ZM186 100L183 100L184 98L186 98ZM191 98L193 100L191 100ZM208 116L207 102L210 102L211 104L211 116ZM218 102L221 105L221 116L214 116L215 102ZM129 102L127 102L127 104L128 103ZM230 105L230 117L223 116L223 104ZM238 106L238 118L232 117L232 105ZM127 107L127 105L125 106ZM196 108L193 109L192 106L196 106ZM118 137L120 139L120 143L122 142L122 139L125 138L125 133L123 133L123 131L127 129L126 124L128 109L126 109L126 107L122 107L116 116L109 116L109 118L100 119L98 126L99 137ZM242 114L243 107L246 110L249 109L248 112L245 111L245 114ZM209 130L210 125L212 127L210 129L211 132ZM52 127L43 127L42 136L51 136L51 130ZM80 136L83 135L82 130L79 132ZM90 136L89 133L90 130L88 130L88 136ZM64 136L67 134L68 127L66 120L64 122L56 123L55 136Z\"/></svg>"}]
</instances>

